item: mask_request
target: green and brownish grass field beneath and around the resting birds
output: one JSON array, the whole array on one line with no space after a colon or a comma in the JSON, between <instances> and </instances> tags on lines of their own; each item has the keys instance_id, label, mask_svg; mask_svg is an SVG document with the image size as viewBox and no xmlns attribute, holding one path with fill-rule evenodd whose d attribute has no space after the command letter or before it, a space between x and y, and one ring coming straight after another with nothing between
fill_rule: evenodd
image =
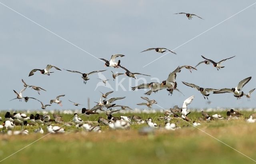
<instances>
[{"instance_id":1,"label":"green and brownish grass field beneath and around the resting birds","mask_svg":"<svg viewBox=\"0 0 256 164\"><path fill-rule=\"evenodd\" d=\"M215 112L209 113L215 114ZM242 113L248 116L252 112ZM225 116L226 112L220 114ZM105 117L103 113L100 115ZM144 119L151 117L158 125L164 126L164 121L157 119L162 113L126 113L125 115L140 115ZM0 116L4 118L4 113L0 113ZM71 116L63 115L64 121L70 121ZM190 114L193 120L197 120L198 117L201 117L201 113ZM81 118L87 120L85 116ZM98 115L89 119L97 121ZM244 118L229 121L201 121L202 125L198 128L246 156L179 118L174 118L171 122L182 128L176 131L158 128L152 135L139 135L138 129L147 126L146 124L131 125L130 130L117 131L110 131L108 127L102 125L102 133L85 132L75 127L64 126L66 130L64 134L49 134L43 137L47 134L46 127L43 127L45 131L43 135L33 133L37 126L26 127L30 131L29 135L0 135L0 160L41 137L43 138L10 156L3 163L254 163L246 156L256 160L256 124L246 123ZM20 126L16 126L15 129L20 129Z\"/></svg>"}]
</instances>

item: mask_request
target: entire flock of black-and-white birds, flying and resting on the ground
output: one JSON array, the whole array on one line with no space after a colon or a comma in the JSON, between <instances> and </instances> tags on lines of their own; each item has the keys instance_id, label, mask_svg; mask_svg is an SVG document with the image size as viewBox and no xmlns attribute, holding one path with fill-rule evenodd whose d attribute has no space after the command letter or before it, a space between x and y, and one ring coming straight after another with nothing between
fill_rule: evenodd
<instances>
[{"instance_id":1,"label":"entire flock of black-and-white birds, flying and resting on the ground","mask_svg":"<svg viewBox=\"0 0 256 164\"><path fill-rule=\"evenodd\" d=\"M192 16L196 16L195 14L188 14L188 13L176 13L176 14L186 14L187 18L189 20L191 20ZM198 18L201 18L199 16L196 16ZM201 18L203 19L203 18ZM173 53L176 55L176 53L174 51L171 51L169 49L166 48L150 48L150 49L146 49L142 52L146 52L146 51L156 51L158 53L164 53L166 51L169 51L170 53ZM142 53L141 52L141 53ZM110 60L106 60L106 59L100 59L102 61L105 62L105 66L106 67L113 67L113 68L122 68L122 70L125 71L125 73L114 73L112 70L112 77L113 80L116 79L117 76L120 76L122 74L125 74L128 77L131 78L137 78L136 76L138 75L143 75L143 76L150 76L147 74L142 74L142 73L138 73L138 72L131 72L130 70L128 70L126 67L121 65L121 61L118 60L116 61L116 58L120 58L120 57L124 57L125 55L121 55L121 54L116 54L116 55L112 55ZM174 71L170 72L168 74L168 78L166 80L163 80L162 83L159 82L150 82L147 84L140 84L138 86L134 86L131 87L132 90L138 90L138 89L149 89L148 92L144 93L145 95L150 95L152 94L152 92L156 93L160 90L167 90L168 94L173 94L173 91L176 90L178 92L180 92L177 88L177 82L176 82L176 76L179 72L181 72L181 70L184 69L188 69L191 73L193 70L197 70L196 67L200 64L213 64L213 66L217 69L220 70L222 68L224 68L225 66L223 66L223 62L228 60L228 59L232 59L234 58L230 57L227 59L223 59L220 62L214 62L211 59L208 59L204 56L202 56L202 58L204 59L204 61L199 62L196 66L190 66L190 65L184 65L184 66L178 66ZM56 70L61 71L60 68L50 65L48 64L46 66L46 68L43 69L33 69L30 71L28 76L33 76L35 74L35 72L40 71L41 74L44 75L48 75L50 76L50 74L52 74L53 72L51 71L52 68L55 68ZM76 70L68 70L68 69L64 69L68 72L73 72L73 73L78 73L81 74L81 77L83 79L84 84L86 84L86 82L88 80L90 80L89 76L91 74L94 73L98 73L98 72L104 72L106 70L96 70L96 71L92 71L89 73L82 73L80 71L76 71ZM255 90L252 89L250 90L250 92L248 94L244 94L244 92L242 91L242 88L251 80L252 77L248 77L245 78L244 80L241 80L238 85L236 87L229 87L229 88L222 88L222 89L213 89L213 88L202 88L200 86L197 86L196 84L192 84L192 83L188 83L188 82L182 82L184 85L189 86L191 88L195 88L196 90L200 91L200 93L203 95L204 99L208 100L208 96L210 96L210 93L213 92L213 94L222 94L222 93L232 93L234 94L234 96L237 99L242 98L243 96L246 96L248 98L248 101L250 100L251 94L252 92ZM100 79L102 80L102 82L106 85L106 80ZM23 97L22 93L26 90L26 88L32 88L34 90L36 90L38 92L38 94L40 95L40 91L46 91L45 89L39 87L39 86L33 86L33 85L28 85L26 84L26 82L22 79L22 82L24 84L24 87L20 92L16 92L15 90L14 93L16 94L16 98L12 99L12 100L16 100L18 99L19 101L22 101L22 99L24 99L25 102L28 102L29 99L34 99L37 100L38 102L40 102L41 104L41 108L42 109L46 109L47 106L51 106L53 103L57 103L58 105L62 106L62 100L60 100L61 97L65 96L60 95L57 96L55 99L50 100L50 104L44 105L44 103L36 98L33 97ZM125 106L125 105L117 105L115 102L117 100L121 100L124 99L125 97L118 97L118 98L109 98L108 96L110 94L112 94L114 91L111 92L107 92L107 93L102 93L101 92L101 96L100 96L100 100L99 102L96 102L97 104L92 107L91 109L86 109L86 108L82 108L82 115L86 115L87 117L91 116L91 115L97 115L99 114L97 111L104 111L106 113L106 118L104 117L98 117L98 123L101 125L106 125L108 126L110 129L129 129L130 125L133 123L137 123L137 124L143 124L146 123L148 124L148 127L152 128L152 127L158 127L158 125L156 123L153 122L152 118L148 118L146 120L143 120L141 117L136 116L136 115L132 115L132 116L125 116L125 115L121 115L120 117L114 117L112 114L115 112L125 109L130 109L133 110L132 108L130 108L129 106ZM145 100L145 102L142 103L138 103L137 105L145 105L148 107L148 109L150 110L152 108L153 104L157 104L156 100L150 100L147 97L141 97L142 100ZM104 100L103 100L104 99ZM166 130L175 130L178 129L180 127L177 127L175 123L170 123L170 120L178 117L180 119L184 119L185 121L191 121L191 119L188 117L188 115L190 114L190 111L188 110L188 105L194 100L194 96L190 96L189 98L187 98L186 100L184 100L182 107L178 107L178 105L175 105L173 108L170 108L170 110L166 110L164 112L164 116L163 117L159 117L158 119L161 120L163 119L165 122L164 125L164 129ZM10 100L11 101L11 100ZM69 100L71 103L73 103L74 105L78 106L78 105L82 105L76 102L73 102L71 100ZM120 109L118 110L112 110L112 107L117 108L120 107ZM104 108L106 108L106 110L104 110ZM107 111L107 109L109 109L110 111ZM239 113L238 111L234 111L233 109L231 109L230 111L227 112L227 117L226 119L237 119L241 116L242 114ZM170 117L173 116L173 117ZM256 115L250 115L250 117L246 117L246 121L247 122L255 122ZM206 113L205 111L202 111L202 117L199 118L202 121L211 121L212 119L225 119L224 117L222 117L219 114L215 114L215 115L209 115L208 113ZM0 121L2 121L2 118L0 118ZM10 112L6 112L5 114L5 120L4 120L4 124L0 125L0 129L7 129L7 133L8 134L28 134L28 130L27 129L23 129L24 126L26 125L39 125L39 128L35 130L36 133L44 133L44 130L42 129L42 125L47 125L46 129L48 131L48 133L64 133L65 130L64 128L62 128L62 126L58 126L58 124L60 123L64 123L64 120L62 119L62 117L60 115L56 115L53 114L53 119L51 119L50 115L46 114L46 115L40 115L38 113L31 114L30 117L28 117L25 113L13 113L11 114ZM90 121L88 121L90 122ZM66 126L76 126L77 128L83 128L85 131L94 131L94 132L100 132L101 128L100 125L92 125L90 123L86 123L86 121L83 121L79 115L77 113L74 113L74 116L72 117L72 121L69 121L67 123L65 123L64 125ZM55 123L54 125L52 123ZM14 128L14 126L17 125L21 125L22 130L20 131L12 131L12 129ZM198 126L200 125L200 123L197 123L195 121L193 121L193 125L194 126Z\"/></svg>"}]
</instances>

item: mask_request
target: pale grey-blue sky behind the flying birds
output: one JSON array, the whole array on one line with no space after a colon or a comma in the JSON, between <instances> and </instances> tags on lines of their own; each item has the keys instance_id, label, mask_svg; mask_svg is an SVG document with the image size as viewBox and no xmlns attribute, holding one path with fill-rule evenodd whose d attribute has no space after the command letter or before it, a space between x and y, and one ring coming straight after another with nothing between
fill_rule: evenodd
<instances>
[{"instance_id":1,"label":"pale grey-blue sky behind the flying birds","mask_svg":"<svg viewBox=\"0 0 256 164\"><path fill-rule=\"evenodd\" d=\"M29 100L27 103L24 100L9 101L16 98L13 90L19 92L24 88L21 79L29 85L47 90L41 91L40 95L30 88L23 92L23 96L37 98L44 104L50 103L58 95L66 95L60 99L63 107L53 104L47 110L87 107L88 98L92 107L94 102L99 101L100 92L109 92L112 89L114 93L110 97L126 97L116 101L116 104L144 108L136 104L144 102L140 96L146 96L146 91L131 91L130 87L143 82L155 82L156 79L162 82L177 66L195 66L204 61L201 55L217 62L234 55L236 57L225 61L225 68L219 71L206 64L199 65L198 70L193 70L192 73L182 69L177 74L176 81L177 88L185 96L175 91L172 96L168 96L166 90L152 93L147 97L156 100L159 105L153 105L153 108L182 106L183 101L192 95L195 98L189 108L254 108L256 93L252 93L250 101L246 97L236 100L230 93L210 94L209 100L212 103L207 104L199 91L182 84L184 81L204 88L233 88L240 80L252 76L243 91L248 93L256 87L256 4L240 12L254 2L1 0L0 110L40 109L40 102L36 100ZM174 14L179 12L196 14L204 20L197 17L188 20L184 14ZM240 13L233 16L238 12ZM226 20L231 16L233 17ZM220 24L217 25L218 23ZM156 47L174 49L177 55L168 53L161 57L164 54L155 51L140 53ZM151 76L138 75L139 79L135 80L121 75L117 82L113 81L111 70L119 73L125 71L122 68L104 67L104 62L97 59L109 60L113 54L125 55L118 59L131 72ZM154 61L159 57L161 58ZM150 62L152 63L148 64ZM28 77L32 69L43 69L47 64L57 66L62 71L53 68L54 73L50 76L35 72L34 76ZM145 66L146 64L148 65ZM94 70L106 71L90 75L90 80L85 85L80 74L63 69L85 73ZM97 78L110 79L107 87ZM76 107L68 100L84 106Z\"/></svg>"}]
</instances>

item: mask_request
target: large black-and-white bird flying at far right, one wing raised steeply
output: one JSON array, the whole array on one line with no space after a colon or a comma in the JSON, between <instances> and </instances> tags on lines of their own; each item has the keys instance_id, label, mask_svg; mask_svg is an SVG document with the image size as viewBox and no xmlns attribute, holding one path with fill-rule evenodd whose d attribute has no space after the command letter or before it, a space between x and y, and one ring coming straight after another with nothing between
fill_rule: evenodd
<instances>
[{"instance_id":1,"label":"large black-and-white bird flying at far right, one wing raised steeply","mask_svg":"<svg viewBox=\"0 0 256 164\"><path fill-rule=\"evenodd\" d=\"M252 77L248 77L248 78L245 78L244 80L240 81L238 83L238 86L236 86L236 88L223 88L223 89L220 89L220 90L215 90L213 93L214 94L223 94L223 93L233 93L234 96L239 99L241 98L242 96L244 96L244 92L242 91L242 88L244 87L245 84L247 84L250 80L251 80Z\"/></svg>"}]
</instances>

